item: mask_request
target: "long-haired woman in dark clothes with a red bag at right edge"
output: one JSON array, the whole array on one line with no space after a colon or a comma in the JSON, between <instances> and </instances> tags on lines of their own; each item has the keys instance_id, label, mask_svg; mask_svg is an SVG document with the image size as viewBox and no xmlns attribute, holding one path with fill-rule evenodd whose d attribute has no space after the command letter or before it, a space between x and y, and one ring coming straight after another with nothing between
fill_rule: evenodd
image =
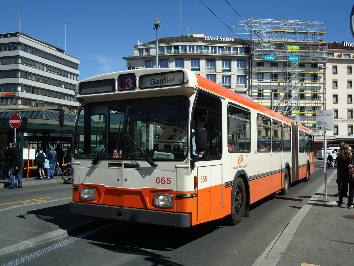
<instances>
[{"instance_id":1,"label":"long-haired woman in dark clothes with a red bag at right edge","mask_svg":"<svg viewBox=\"0 0 354 266\"><path fill-rule=\"evenodd\" d=\"M339 191L338 207L342 206L344 195L348 192L349 184L349 194L348 194L348 209L354 209L353 196L354 196L354 181L349 181L349 171L348 165L354 164L352 151L349 150L349 145L343 143L341 145L340 152L337 155L337 165L339 167L339 173L341 174L342 188Z\"/></svg>"}]
</instances>

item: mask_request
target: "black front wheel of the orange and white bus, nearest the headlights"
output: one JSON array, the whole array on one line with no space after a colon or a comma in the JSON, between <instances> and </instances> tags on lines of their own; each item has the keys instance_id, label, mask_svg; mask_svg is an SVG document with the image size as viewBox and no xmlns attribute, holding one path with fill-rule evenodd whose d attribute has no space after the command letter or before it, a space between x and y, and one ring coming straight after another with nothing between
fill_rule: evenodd
<instances>
[{"instance_id":1,"label":"black front wheel of the orange and white bus, nearest the headlights","mask_svg":"<svg viewBox=\"0 0 354 266\"><path fill-rule=\"evenodd\" d=\"M245 205L246 205L246 189L245 183L242 178L236 180L236 185L234 187L232 199L231 199L231 219L234 225L237 225L241 222L242 217L245 214ZM231 220L230 219L230 220Z\"/></svg>"}]
</instances>

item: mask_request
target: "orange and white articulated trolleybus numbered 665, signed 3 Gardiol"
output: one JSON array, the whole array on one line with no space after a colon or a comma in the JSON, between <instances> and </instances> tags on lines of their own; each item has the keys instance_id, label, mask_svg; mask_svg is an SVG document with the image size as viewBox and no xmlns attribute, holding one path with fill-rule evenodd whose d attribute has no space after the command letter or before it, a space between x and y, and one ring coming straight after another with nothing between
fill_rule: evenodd
<instances>
[{"instance_id":1,"label":"orange and white articulated trolleybus numbered 665, signed 3 Gardiol","mask_svg":"<svg viewBox=\"0 0 354 266\"><path fill-rule=\"evenodd\" d=\"M189 70L103 74L75 93L72 214L237 224L314 171L311 130Z\"/></svg>"}]
</instances>

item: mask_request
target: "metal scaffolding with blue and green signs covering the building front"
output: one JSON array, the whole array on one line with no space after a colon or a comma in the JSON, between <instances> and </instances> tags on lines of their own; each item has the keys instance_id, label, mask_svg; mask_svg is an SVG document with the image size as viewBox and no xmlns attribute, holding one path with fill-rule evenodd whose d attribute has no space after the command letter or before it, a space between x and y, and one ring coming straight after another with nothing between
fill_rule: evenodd
<instances>
[{"instance_id":1,"label":"metal scaffolding with blue and green signs covering the building front","mask_svg":"<svg viewBox=\"0 0 354 266\"><path fill-rule=\"evenodd\" d=\"M259 104L315 127L325 109L327 63L324 21L248 18L234 34L251 41L250 96Z\"/></svg>"}]
</instances>

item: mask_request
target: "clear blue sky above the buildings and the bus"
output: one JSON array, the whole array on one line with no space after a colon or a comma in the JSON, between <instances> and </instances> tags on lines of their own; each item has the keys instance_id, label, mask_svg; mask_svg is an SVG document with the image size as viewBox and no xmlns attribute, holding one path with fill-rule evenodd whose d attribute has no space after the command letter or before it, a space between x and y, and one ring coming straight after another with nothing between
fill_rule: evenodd
<instances>
[{"instance_id":1,"label":"clear blue sky above the buildings and the bus","mask_svg":"<svg viewBox=\"0 0 354 266\"><path fill-rule=\"evenodd\" d=\"M5 5L6 2L6 5ZM19 31L19 0L2 3L0 32ZM220 21L209 9L220 18ZM353 41L349 16L353 1L286 0L182 0L182 35L227 36L242 18L313 20L326 22L326 41ZM126 70L122 57L133 45L181 35L181 0L22 0L21 32L65 49L80 60L80 77ZM225 24L227 26L225 26Z\"/></svg>"}]
</instances>

